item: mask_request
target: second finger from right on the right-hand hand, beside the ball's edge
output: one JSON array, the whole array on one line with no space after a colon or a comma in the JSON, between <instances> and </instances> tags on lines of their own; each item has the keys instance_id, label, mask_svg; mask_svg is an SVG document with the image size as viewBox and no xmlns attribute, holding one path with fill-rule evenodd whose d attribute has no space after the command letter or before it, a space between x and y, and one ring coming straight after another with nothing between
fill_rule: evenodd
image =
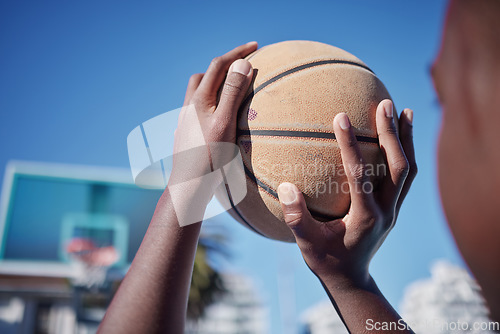
<instances>
[{"instance_id":1,"label":"second finger from right on the right-hand hand, beside the ball's edge","mask_svg":"<svg viewBox=\"0 0 500 334\"><path fill-rule=\"evenodd\" d=\"M394 210L408 175L409 164L399 141L391 100L383 100L379 103L376 123L380 148L389 168L389 175L386 175L382 181L380 203L383 209Z\"/></svg>"}]
</instances>

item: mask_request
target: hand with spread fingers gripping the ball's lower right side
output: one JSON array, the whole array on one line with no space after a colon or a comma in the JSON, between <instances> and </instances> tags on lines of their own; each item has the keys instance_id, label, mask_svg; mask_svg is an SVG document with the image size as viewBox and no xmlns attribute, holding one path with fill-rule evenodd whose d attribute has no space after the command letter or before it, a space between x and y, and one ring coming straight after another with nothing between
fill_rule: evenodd
<instances>
[{"instance_id":1,"label":"hand with spread fingers gripping the ball's lower right side","mask_svg":"<svg viewBox=\"0 0 500 334\"><path fill-rule=\"evenodd\" d=\"M388 116L386 116L388 115ZM399 119L399 137L390 100L377 107L380 148L389 173L376 192L362 191L368 178L356 137L346 114L338 114L333 128L349 182L348 214L330 222L311 217L304 197L291 183L278 187L285 221L310 269L321 279L336 283L368 284L368 266L389 231L417 173L412 138L413 112L405 109Z\"/></svg>"}]
</instances>

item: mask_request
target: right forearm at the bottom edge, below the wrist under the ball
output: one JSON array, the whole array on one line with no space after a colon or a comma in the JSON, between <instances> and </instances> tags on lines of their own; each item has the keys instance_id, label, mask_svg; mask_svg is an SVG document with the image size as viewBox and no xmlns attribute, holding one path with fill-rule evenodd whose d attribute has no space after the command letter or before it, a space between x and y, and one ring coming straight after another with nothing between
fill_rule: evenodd
<instances>
[{"instance_id":1,"label":"right forearm at the bottom edge, below the wrist under the ball","mask_svg":"<svg viewBox=\"0 0 500 334\"><path fill-rule=\"evenodd\" d=\"M338 277L321 282L350 333L413 333L371 277L366 282Z\"/></svg>"}]
</instances>

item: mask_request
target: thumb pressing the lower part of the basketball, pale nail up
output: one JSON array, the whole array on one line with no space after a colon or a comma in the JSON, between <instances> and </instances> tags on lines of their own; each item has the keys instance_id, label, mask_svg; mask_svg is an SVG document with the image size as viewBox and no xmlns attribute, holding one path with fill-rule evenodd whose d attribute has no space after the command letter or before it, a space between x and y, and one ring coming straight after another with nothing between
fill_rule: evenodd
<instances>
[{"instance_id":1,"label":"thumb pressing the lower part of the basketball, pale nail up","mask_svg":"<svg viewBox=\"0 0 500 334\"><path fill-rule=\"evenodd\" d=\"M278 197L285 216L285 223L292 230L297 242L314 241L315 221L307 209L300 190L292 183L284 182L278 187Z\"/></svg>"}]
</instances>

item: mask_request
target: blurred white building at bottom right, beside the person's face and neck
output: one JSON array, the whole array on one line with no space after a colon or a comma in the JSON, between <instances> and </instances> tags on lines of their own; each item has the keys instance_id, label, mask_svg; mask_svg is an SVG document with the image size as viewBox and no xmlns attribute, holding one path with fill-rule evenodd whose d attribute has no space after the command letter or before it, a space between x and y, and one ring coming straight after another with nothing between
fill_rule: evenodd
<instances>
[{"instance_id":1,"label":"blurred white building at bottom right, beside the person's face and neck","mask_svg":"<svg viewBox=\"0 0 500 334\"><path fill-rule=\"evenodd\" d=\"M494 333L480 287L468 272L441 261L431 277L406 288L401 315L416 333ZM496 327L498 330L498 327Z\"/></svg>"}]
</instances>

